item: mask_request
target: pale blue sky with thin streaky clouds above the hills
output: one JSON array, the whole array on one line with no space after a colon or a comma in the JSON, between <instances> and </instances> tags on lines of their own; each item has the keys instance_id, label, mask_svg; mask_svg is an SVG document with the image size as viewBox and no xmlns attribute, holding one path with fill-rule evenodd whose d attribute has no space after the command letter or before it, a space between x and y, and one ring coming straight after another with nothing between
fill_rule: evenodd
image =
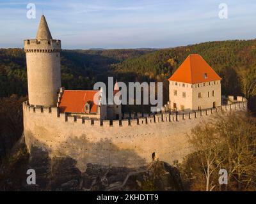
<instances>
[{"instance_id":1,"label":"pale blue sky with thin streaky clouds above the hills","mask_svg":"<svg viewBox=\"0 0 256 204\"><path fill-rule=\"evenodd\" d=\"M28 18L29 3L35 18ZM227 5L227 18L220 18ZM256 37L255 0L0 0L0 48L35 39L44 13L62 48L168 48ZM221 12L222 13L222 12Z\"/></svg>"}]
</instances>

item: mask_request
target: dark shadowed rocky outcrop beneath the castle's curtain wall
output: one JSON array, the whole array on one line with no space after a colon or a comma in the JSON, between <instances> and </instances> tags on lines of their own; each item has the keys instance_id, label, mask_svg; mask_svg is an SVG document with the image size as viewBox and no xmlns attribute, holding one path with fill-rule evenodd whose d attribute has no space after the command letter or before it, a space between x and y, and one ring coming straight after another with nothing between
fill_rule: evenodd
<instances>
[{"instance_id":1,"label":"dark shadowed rocky outcrop beneath the castle's curtain wall","mask_svg":"<svg viewBox=\"0 0 256 204\"><path fill-rule=\"evenodd\" d=\"M20 148L26 148L20 145ZM22 150L17 150L18 152ZM182 191L179 170L163 161L153 161L141 168L126 168L86 164L84 172L76 167L76 161L70 157L49 157L46 149L34 147L26 158L19 157L24 163L22 172L15 164L9 164L6 178L12 178L12 172L21 175L20 183L12 186L15 190L26 191ZM19 161L20 160L20 161ZM26 162L24 162L26 161ZM15 168L15 170L12 170ZM26 170L36 171L36 185L26 184ZM4 173L4 172L3 172ZM8 181L4 182L5 189ZM7 186L7 187L6 187ZM3 187L2 187L3 189Z\"/></svg>"}]
</instances>

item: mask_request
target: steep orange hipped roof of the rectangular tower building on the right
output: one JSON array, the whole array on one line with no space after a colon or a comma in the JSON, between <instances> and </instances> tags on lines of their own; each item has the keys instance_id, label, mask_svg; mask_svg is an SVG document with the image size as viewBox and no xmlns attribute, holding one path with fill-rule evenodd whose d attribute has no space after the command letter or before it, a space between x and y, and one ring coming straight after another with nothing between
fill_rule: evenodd
<instances>
[{"instance_id":1,"label":"steep orange hipped roof of the rectangular tower building on the right","mask_svg":"<svg viewBox=\"0 0 256 204\"><path fill-rule=\"evenodd\" d=\"M207 77L205 77L205 73ZM220 76L198 54L189 55L168 80L198 84L221 80Z\"/></svg>"}]
</instances>

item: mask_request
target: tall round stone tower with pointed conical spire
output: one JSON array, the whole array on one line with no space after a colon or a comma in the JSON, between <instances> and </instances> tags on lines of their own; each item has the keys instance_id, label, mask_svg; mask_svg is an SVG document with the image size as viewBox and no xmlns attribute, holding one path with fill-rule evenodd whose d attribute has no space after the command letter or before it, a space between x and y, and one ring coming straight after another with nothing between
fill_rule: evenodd
<instances>
[{"instance_id":1,"label":"tall round stone tower with pointed conical spire","mask_svg":"<svg viewBox=\"0 0 256 204\"><path fill-rule=\"evenodd\" d=\"M24 40L28 72L28 99L34 106L56 106L61 87L61 41L52 40L44 15L35 40Z\"/></svg>"}]
</instances>

